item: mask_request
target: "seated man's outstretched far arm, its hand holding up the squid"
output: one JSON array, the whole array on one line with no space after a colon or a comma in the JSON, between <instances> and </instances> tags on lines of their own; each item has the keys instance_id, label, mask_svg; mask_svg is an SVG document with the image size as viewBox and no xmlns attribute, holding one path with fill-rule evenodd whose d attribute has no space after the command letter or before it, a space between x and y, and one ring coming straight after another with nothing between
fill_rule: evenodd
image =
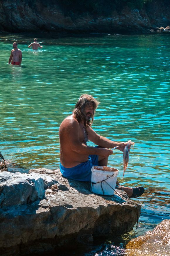
<instances>
[{"instance_id":1,"label":"seated man's outstretched far arm, its hand holding up the squid","mask_svg":"<svg viewBox=\"0 0 170 256\"><path fill-rule=\"evenodd\" d=\"M98 135L90 126L87 128L87 132L89 135L89 140L98 146L101 146L104 148L113 148L118 146L117 149L121 151L123 151L123 149L126 146L125 142L115 142L103 136Z\"/></svg>"}]
</instances>

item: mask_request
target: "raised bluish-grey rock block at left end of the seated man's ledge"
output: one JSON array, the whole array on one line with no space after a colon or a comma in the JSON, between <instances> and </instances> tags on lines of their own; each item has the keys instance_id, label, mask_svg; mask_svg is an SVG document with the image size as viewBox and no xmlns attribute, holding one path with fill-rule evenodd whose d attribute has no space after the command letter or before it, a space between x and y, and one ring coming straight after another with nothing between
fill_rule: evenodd
<instances>
[{"instance_id":1,"label":"raised bluish-grey rock block at left end of the seated man's ledge","mask_svg":"<svg viewBox=\"0 0 170 256\"><path fill-rule=\"evenodd\" d=\"M40 175L1 172L0 205L2 210L5 211L14 205L28 204L43 199L44 196L44 180Z\"/></svg>"}]
</instances>

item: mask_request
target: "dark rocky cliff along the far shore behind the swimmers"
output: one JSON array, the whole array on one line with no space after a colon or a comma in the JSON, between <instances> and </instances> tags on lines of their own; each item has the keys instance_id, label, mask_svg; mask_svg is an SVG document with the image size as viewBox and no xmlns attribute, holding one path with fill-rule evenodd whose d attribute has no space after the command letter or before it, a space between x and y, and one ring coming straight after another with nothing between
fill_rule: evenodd
<instances>
[{"instance_id":1,"label":"dark rocky cliff along the far shore behind the swimmers","mask_svg":"<svg viewBox=\"0 0 170 256\"><path fill-rule=\"evenodd\" d=\"M71 1L1 0L0 30L10 32L53 31L56 33L147 32L170 24L169 1L149 1L142 9L126 5L101 11L68 6ZM74 1L73 1L74 2ZM77 1L81 3L81 1ZM92 2L92 1L91 1ZM101 1L102 2L102 1ZM70 9L69 9L70 8Z\"/></svg>"}]
</instances>

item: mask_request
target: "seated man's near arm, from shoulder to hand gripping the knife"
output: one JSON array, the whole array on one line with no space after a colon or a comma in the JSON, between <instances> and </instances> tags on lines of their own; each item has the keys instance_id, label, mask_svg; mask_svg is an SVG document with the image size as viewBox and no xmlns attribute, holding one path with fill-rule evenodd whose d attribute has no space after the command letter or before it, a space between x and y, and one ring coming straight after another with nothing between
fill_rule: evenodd
<instances>
[{"instance_id":1,"label":"seated man's near arm, from shoulder to hand gripping the knife","mask_svg":"<svg viewBox=\"0 0 170 256\"><path fill-rule=\"evenodd\" d=\"M60 126L60 139L62 136L67 137L69 147L78 154L95 154L102 157L108 157L113 151L107 148L94 148L85 145L79 141L79 123L76 119L65 119Z\"/></svg>"}]
</instances>

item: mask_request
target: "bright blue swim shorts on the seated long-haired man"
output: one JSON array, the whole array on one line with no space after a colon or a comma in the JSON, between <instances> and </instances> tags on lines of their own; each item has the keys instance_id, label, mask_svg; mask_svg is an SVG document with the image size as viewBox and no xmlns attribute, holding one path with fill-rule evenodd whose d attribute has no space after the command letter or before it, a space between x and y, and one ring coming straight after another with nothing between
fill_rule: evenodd
<instances>
[{"instance_id":1,"label":"bright blue swim shorts on the seated long-haired man","mask_svg":"<svg viewBox=\"0 0 170 256\"><path fill-rule=\"evenodd\" d=\"M91 167L98 165L98 155L89 155L88 161L72 168L65 168L60 163L60 172L69 179L91 182Z\"/></svg>"}]
</instances>

